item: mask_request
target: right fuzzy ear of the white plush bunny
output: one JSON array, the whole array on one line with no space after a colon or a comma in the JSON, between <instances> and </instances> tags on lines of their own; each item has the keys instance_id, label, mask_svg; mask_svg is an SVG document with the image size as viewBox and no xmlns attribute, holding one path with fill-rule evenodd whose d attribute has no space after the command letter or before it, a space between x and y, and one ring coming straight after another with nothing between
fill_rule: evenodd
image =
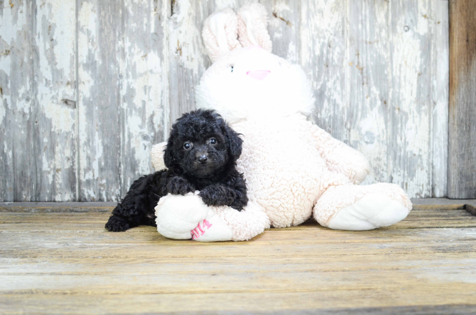
<instances>
[{"instance_id":1,"label":"right fuzzy ear of the white plush bunny","mask_svg":"<svg viewBox=\"0 0 476 315\"><path fill-rule=\"evenodd\" d=\"M268 27L268 13L261 3L246 3L238 10L238 39L241 46L261 46L271 52L272 42Z\"/></svg>"}]
</instances>

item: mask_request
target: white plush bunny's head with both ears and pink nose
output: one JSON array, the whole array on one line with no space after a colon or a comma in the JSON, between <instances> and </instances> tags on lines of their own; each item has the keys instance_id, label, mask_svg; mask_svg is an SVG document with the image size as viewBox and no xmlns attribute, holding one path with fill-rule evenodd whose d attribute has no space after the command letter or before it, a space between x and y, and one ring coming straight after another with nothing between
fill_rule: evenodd
<instances>
[{"instance_id":1,"label":"white plush bunny's head with both ears and pink nose","mask_svg":"<svg viewBox=\"0 0 476 315\"><path fill-rule=\"evenodd\" d=\"M266 27L258 3L245 4L238 16L227 8L205 20L202 36L214 63L197 87L197 108L214 109L230 123L310 113L314 99L304 71L271 53Z\"/></svg>"}]
</instances>

